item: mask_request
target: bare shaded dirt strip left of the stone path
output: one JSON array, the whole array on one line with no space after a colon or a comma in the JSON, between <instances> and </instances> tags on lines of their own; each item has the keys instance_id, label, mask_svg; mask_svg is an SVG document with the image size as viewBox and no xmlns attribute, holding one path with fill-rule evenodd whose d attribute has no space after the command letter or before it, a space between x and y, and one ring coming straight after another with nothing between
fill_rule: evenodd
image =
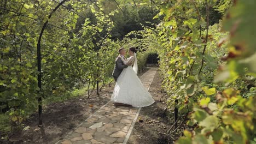
<instances>
[{"instance_id":1,"label":"bare shaded dirt strip left of the stone path","mask_svg":"<svg viewBox=\"0 0 256 144\"><path fill-rule=\"evenodd\" d=\"M138 76L146 73L147 70ZM69 99L65 102L65 107L61 102L46 105L43 107L43 127L38 128L38 115L35 113L23 123L28 128L27 130L16 130L9 134L8 141L0 140L0 143L55 143L106 104L111 98L113 89L114 82L111 83L111 87L102 88L99 96L93 92L90 99L86 95Z\"/></svg>"}]
</instances>

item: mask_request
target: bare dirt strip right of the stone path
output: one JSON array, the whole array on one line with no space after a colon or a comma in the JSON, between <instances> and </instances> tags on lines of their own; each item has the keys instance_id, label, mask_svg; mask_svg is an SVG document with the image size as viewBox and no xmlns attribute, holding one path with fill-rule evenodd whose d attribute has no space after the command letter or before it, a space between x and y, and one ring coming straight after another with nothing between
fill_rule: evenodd
<instances>
[{"instance_id":1,"label":"bare dirt strip right of the stone path","mask_svg":"<svg viewBox=\"0 0 256 144\"><path fill-rule=\"evenodd\" d=\"M160 99L166 99L165 93L161 89L161 79L157 72L149 92L155 99L155 103L148 107L143 107L139 113L139 117L132 130L128 144L167 144L174 143L182 135L182 130L178 133L167 136L168 129L172 127L172 113L166 116L165 102ZM165 100L163 100L165 101ZM171 138L171 139L170 139Z\"/></svg>"}]
</instances>

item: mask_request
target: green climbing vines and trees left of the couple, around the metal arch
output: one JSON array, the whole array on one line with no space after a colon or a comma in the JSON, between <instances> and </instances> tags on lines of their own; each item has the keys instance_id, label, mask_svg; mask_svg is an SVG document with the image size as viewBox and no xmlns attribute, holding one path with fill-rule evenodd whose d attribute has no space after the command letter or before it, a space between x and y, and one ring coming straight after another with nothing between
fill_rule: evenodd
<instances>
[{"instance_id":1,"label":"green climbing vines and trees left of the couple, around the metal arch","mask_svg":"<svg viewBox=\"0 0 256 144\"><path fill-rule=\"evenodd\" d=\"M0 127L19 125L37 109L38 97L43 97L43 104L65 101L81 92L85 94L89 81L94 88L97 81L104 85L113 79L118 49L130 47L117 38L141 29L142 22L151 26L146 21L153 21L147 4L134 9L135 5L118 3L126 15L114 1L112 7L102 1L66 1L51 19L48 16L58 4L54 1L0 3L0 116L11 119L9 123L1 117ZM43 77L39 92L37 41L46 21L49 23L41 41ZM118 31L122 32L121 37L116 35ZM138 53L140 71L145 68L147 56Z\"/></svg>"}]
</instances>

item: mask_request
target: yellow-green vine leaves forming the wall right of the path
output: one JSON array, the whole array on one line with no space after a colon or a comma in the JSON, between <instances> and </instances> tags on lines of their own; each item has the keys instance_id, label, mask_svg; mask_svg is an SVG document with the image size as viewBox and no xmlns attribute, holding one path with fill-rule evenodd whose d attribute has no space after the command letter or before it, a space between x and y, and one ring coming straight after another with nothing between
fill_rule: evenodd
<instances>
[{"instance_id":1,"label":"yellow-green vine leaves forming the wall right of the path","mask_svg":"<svg viewBox=\"0 0 256 144\"><path fill-rule=\"evenodd\" d=\"M236 1L228 11L224 7L230 7L231 1L160 3L155 17L164 15L164 20L155 39L162 86L170 95L170 109L178 106L181 112L190 112L187 124L193 128L184 131L177 143L253 142L255 90L247 86L255 87L256 3ZM200 5L206 7L204 15L199 13ZM210 26L212 7L226 11L226 18Z\"/></svg>"}]
</instances>

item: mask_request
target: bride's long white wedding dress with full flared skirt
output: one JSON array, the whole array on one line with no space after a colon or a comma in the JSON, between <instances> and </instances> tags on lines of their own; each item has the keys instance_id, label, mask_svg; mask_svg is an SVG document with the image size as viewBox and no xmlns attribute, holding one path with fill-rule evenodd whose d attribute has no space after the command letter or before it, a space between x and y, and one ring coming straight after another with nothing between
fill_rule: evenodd
<instances>
[{"instance_id":1,"label":"bride's long white wedding dress with full flared skirt","mask_svg":"<svg viewBox=\"0 0 256 144\"><path fill-rule=\"evenodd\" d=\"M131 56L127 58L127 61L124 59L122 61L129 66L123 69L118 77L111 100L115 103L128 104L133 107L144 107L153 104L155 100L137 76L136 53L134 57ZM133 68L132 64L134 64Z\"/></svg>"}]
</instances>

